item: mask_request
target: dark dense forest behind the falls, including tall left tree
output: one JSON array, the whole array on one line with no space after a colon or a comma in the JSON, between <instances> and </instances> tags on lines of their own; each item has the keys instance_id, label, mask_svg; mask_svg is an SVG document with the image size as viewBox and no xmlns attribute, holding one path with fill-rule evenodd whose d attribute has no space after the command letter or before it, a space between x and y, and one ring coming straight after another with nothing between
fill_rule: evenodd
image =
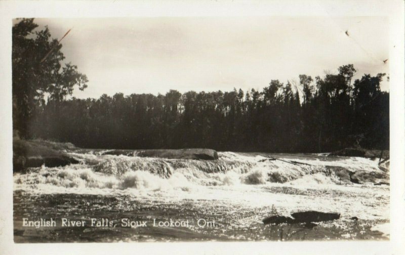
<instances>
[{"instance_id":1,"label":"dark dense forest behind the falls, including tall left tree","mask_svg":"<svg viewBox=\"0 0 405 255\"><path fill-rule=\"evenodd\" d=\"M13 27L13 124L23 138L86 148L389 149L389 93L380 89L385 74L364 74L353 80L356 70L348 64L323 77L299 75L299 81L286 83L274 79L261 91L181 94L171 90L157 96L117 93L66 99L73 86L86 88L87 77L71 64L61 68L60 42L48 41L47 29L35 32L37 38L45 38L47 47L30 56L24 40L35 41L26 36L35 28L32 24L32 19L23 20ZM26 71L38 63L48 69ZM35 86L39 89L32 89ZM46 100L45 93L50 95Z\"/></svg>"}]
</instances>

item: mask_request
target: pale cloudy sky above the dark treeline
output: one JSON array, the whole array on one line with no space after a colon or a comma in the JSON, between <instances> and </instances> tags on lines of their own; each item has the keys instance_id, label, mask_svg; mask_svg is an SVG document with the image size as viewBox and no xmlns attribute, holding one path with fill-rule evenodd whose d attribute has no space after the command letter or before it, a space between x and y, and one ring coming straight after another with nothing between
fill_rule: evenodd
<instances>
[{"instance_id":1,"label":"pale cloudy sky above the dark treeline","mask_svg":"<svg viewBox=\"0 0 405 255\"><path fill-rule=\"evenodd\" d=\"M261 90L353 64L355 78L389 72L386 17L35 19L87 75L76 98L102 94ZM346 34L347 31L347 34ZM388 91L384 79L382 90Z\"/></svg>"}]
</instances>

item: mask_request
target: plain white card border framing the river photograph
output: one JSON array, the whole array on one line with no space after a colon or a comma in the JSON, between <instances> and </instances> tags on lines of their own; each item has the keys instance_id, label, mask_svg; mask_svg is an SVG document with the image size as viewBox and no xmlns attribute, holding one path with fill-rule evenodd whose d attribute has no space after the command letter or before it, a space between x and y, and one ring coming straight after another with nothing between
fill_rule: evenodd
<instances>
[{"instance_id":1,"label":"plain white card border framing the river photograph","mask_svg":"<svg viewBox=\"0 0 405 255\"><path fill-rule=\"evenodd\" d=\"M390 18L390 241L14 244L12 18L134 16L388 16ZM404 1L0 1L0 254L405 254ZM394 47L395 46L395 47Z\"/></svg>"}]
</instances>

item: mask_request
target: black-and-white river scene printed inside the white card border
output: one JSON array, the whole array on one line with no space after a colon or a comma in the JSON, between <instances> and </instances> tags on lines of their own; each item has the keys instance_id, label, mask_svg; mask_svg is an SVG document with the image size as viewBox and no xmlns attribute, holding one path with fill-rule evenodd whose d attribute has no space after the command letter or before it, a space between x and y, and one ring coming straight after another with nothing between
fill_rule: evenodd
<instances>
[{"instance_id":1,"label":"black-and-white river scene printed inside the white card border","mask_svg":"<svg viewBox=\"0 0 405 255\"><path fill-rule=\"evenodd\" d=\"M13 17L14 243L389 242L390 21Z\"/></svg>"}]
</instances>

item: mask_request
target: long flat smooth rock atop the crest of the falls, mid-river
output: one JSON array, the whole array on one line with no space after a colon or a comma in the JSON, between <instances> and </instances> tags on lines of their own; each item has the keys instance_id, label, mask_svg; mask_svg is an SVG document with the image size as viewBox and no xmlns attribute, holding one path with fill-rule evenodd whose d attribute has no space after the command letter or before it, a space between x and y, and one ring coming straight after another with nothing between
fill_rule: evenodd
<instances>
[{"instance_id":1,"label":"long flat smooth rock atop the crest of the falls, mid-river","mask_svg":"<svg viewBox=\"0 0 405 255\"><path fill-rule=\"evenodd\" d=\"M218 159L218 153L212 149L179 149L179 150L139 150L135 152L139 157L158 157L174 159Z\"/></svg>"}]
</instances>

